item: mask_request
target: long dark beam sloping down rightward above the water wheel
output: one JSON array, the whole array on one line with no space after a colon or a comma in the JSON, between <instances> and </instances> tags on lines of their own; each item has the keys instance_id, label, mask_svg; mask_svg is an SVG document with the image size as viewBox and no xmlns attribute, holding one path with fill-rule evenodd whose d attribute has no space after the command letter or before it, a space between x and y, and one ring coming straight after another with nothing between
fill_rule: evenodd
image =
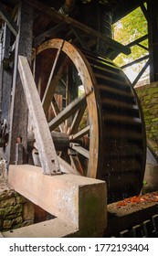
<instances>
[{"instance_id":1,"label":"long dark beam sloping down rightward above the water wheel","mask_svg":"<svg viewBox=\"0 0 158 256\"><path fill-rule=\"evenodd\" d=\"M48 17L50 17L52 20L54 20L57 23L59 21L63 21L65 23L67 23L68 25L70 25L71 27L79 28L79 31L82 31L89 37L94 37L96 39L100 38L101 40L105 41L108 46L111 46L111 48L119 49L120 52L122 52L124 54L131 53L130 48L127 48L127 47L121 45L121 43L119 43L115 40L112 40L111 37L106 37L106 36L102 35L100 32L98 32L97 30L94 30L91 27L83 25L79 21L74 20L68 16L60 15L56 10L48 7L47 5L43 5L42 3L38 2L37 0L31 0L31 1L25 0L25 1L29 5L32 5L34 8L36 8L39 12L41 12L42 15L44 15L44 14L47 15Z\"/></svg>"}]
</instances>

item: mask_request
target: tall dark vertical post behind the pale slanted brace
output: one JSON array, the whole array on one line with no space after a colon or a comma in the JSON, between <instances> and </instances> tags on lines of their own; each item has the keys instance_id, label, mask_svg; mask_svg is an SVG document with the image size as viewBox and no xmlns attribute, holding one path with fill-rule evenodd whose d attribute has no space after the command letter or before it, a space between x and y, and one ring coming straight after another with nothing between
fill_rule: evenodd
<instances>
[{"instance_id":1,"label":"tall dark vertical post behind the pale slanted brace","mask_svg":"<svg viewBox=\"0 0 158 256\"><path fill-rule=\"evenodd\" d=\"M9 134L9 153L8 163L16 163L16 138L22 139L24 146L24 163L27 162L27 123L28 111L26 98L17 72L18 55L24 55L31 61L32 55L32 28L33 28L33 9L30 5L21 2L18 8L18 34L16 37L16 51L13 76L12 105L10 112L10 134Z\"/></svg>"}]
</instances>

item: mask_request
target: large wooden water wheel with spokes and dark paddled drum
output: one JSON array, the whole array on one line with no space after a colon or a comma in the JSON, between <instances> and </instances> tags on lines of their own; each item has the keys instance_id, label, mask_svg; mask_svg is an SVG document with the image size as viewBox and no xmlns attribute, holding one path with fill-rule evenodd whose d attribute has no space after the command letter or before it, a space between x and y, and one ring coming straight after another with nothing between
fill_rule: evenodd
<instances>
[{"instance_id":1,"label":"large wooden water wheel with spokes and dark paddled drum","mask_svg":"<svg viewBox=\"0 0 158 256\"><path fill-rule=\"evenodd\" d=\"M33 66L61 169L105 180L109 202L138 194L145 132L121 69L62 39L40 45Z\"/></svg>"}]
</instances>

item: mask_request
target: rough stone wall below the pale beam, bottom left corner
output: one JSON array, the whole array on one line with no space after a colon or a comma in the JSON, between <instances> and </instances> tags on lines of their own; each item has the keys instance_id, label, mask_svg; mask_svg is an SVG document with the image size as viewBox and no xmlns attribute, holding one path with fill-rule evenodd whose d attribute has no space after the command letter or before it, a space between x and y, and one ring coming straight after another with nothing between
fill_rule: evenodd
<instances>
[{"instance_id":1,"label":"rough stone wall below the pale beam, bottom left corner","mask_svg":"<svg viewBox=\"0 0 158 256\"><path fill-rule=\"evenodd\" d=\"M0 231L34 223L34 205L0 180Z\"/></svg>"}]
</instances>

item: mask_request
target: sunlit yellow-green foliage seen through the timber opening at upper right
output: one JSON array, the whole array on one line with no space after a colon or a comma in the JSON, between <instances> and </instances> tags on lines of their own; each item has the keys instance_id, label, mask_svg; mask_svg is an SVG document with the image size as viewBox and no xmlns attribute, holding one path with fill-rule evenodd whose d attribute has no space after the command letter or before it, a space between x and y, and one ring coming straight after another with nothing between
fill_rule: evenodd
<instances>
[{"instance_id":1,"label":"sunlit yellow-green foliage seen through the timber opening at upper right","mask_svg":"<svg viewBox=\"0 0 158 256\"><path fill-rule=\"evenodd\" d=\"M121 42L123 45L128 45L132 41L146 35L148 33L147 21L142 13L142 9L139 7L132 11L128 16L123 17L119 22L113 25L114 39ZM148 40L144 40L142 46L148 48ZM148 51L139 46L133 46L132 53L128 56L120 54L115 63L118 66L122 66L126 63L130 63L134 59L141 58Z\"/></svg>"}]
</instances>

